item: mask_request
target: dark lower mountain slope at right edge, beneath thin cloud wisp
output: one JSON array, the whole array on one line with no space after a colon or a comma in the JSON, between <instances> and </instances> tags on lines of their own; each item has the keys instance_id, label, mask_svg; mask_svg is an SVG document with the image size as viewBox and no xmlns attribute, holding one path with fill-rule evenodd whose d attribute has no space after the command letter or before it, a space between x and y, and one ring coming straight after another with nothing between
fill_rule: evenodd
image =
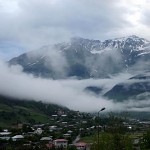
<instances>
[{"instance_id":1,"label":"dark lower mountain slope at right edge, beneath thin cloud wisp","mask_svg":"<svg viewBox=\"0 0 150 150\"><path fill-rule=\"evenodd\" d=\"M117 84L105 93L104 96L115 101L147 100L150 98L150 80Z\"/></svg>"}]
</instances>

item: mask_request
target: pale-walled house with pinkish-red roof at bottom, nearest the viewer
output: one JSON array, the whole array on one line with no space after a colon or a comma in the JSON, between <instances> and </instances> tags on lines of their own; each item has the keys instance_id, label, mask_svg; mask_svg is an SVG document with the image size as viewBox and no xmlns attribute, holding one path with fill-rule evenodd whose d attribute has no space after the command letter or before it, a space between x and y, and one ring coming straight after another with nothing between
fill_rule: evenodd
<instances>
[{"instance_id":1,"label":"pale-walled house with pinkish-red roof at bottom, nearest the viewer","mask_svg":"<svg viewBox=\"0 0 150 150\"><path fill-rule=\"evenodd\" d=\"M59 147L67 148L68 140L66 140L66 139L56 139L56 140L54 140L54 146L56 148L59 148Z\"/></svg>"}]
</instances>

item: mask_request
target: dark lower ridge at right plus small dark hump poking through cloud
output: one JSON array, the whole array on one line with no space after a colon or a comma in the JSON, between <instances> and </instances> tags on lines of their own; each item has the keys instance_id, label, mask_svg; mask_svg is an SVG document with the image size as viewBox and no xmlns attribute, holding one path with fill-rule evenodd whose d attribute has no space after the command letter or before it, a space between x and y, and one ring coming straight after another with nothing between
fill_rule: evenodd
<instances>
[{"instance_id":1,"label":"dark lower ridge at right plus small dark hump poking through cloud","mask_svg":"<svg viewBox=\"0 0 150 150\"><path fill-rule=\"evenodd\" d=\"M123 101L144 101L150 98L150 74L144 73L133 76L127 80L117 83L108 91L103 92L102 85L89 86L85 92L93 93L97 96L114 100L115 102ZM148 106L148 103L146 103Z\"/></svg>"}]
</instances>

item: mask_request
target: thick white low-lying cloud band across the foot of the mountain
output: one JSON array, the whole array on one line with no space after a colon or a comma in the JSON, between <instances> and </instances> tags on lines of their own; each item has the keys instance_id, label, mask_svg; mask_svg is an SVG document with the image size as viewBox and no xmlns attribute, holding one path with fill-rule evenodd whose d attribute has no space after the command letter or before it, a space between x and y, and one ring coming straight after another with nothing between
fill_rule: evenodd
<instances>
[{"instance_id":1,"label":"thick white low-lying cloud band across the foot of the mountain","mask_svg":"<svg viewBox=\"0 0 150 150\"><path fill-rule=\"evenodd\" d=\"M90 85L102 86L107 91L115 84L128 79L130 74L120 74L112 79L67 79L52 80L35 78L22 72L21 66L8 67L0 63L0 94L13 98L43 101L66 106L73 110L94 112L106 107L106 111L134 110L142 111L143 102L113 102L104 97L95 96L84 91ZM150 101L146 101L150 104ZM143 108L145 110L145 108ZM146 109L147 110L147 109Z\"/></svg>"}]
</instances>

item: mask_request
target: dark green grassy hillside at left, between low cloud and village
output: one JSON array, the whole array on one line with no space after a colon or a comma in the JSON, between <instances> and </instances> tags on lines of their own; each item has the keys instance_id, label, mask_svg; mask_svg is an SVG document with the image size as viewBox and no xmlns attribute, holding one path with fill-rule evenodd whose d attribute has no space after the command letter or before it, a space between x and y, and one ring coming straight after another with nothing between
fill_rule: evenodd
<instances>
[{"instance_id":1,"label":"dark green grassy hillside at left, between low cloud and village","mask_svg":"<svg viewBox=\"0 0 150 150\"><path fill-rule=\"evenodd\" d=\"M50 116L58 110L65 112L68 109L55 104L0 96L0 126L13 126L19 123L49 123L51 122Z\"/></svg>"}]
</instances>

